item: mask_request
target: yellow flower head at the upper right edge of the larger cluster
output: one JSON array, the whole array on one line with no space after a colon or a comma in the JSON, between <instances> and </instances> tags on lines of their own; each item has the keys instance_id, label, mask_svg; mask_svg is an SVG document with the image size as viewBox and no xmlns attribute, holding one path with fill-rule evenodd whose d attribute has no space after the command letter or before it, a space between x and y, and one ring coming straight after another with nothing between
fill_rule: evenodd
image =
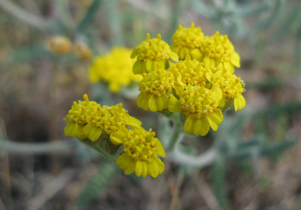
<instances>
[{"instance_id":1,"label":"yellow flower head at the upper right edge of the larger cluster","mask_svg":"<svg viewBox=\"0 0 301 210\"><path fill-rule=\"evenodd\" d=\"M234 72L234 66L240 67L240 57L234 51L234 46L227 35L219 35L217 31L214 36L206 36L200 46L200 62L210 69L216 68L220 63L230 73Z\"/></svg>"}]
</instances>

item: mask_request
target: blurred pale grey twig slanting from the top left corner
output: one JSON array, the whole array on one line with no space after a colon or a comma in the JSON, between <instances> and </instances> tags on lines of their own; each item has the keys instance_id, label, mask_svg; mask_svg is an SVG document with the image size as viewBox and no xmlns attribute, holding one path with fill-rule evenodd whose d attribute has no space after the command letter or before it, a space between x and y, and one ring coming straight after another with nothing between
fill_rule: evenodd
<instances>
[{"instance_id":1,"label":"blurred pale grey twig slanting from the top left corner","mask_svg":"<svg viewBox=\"0 0 301 210\"><path fill-rule=\"evenodd\" d=\"M0 7L2 7L4 10L11 13L15 17L19 18L20 20L23 20L42 31L46 29L45 20L42 17L29 13L14 2L11 2L9 0L0 0Z\"/></svg>"}]
</instances>

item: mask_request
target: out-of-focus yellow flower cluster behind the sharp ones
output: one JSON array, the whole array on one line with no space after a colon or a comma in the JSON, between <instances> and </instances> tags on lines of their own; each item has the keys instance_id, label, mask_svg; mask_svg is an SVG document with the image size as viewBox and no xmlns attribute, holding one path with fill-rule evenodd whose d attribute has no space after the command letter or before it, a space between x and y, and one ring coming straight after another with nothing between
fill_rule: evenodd
<instances>
[{"instance_id":1,"label":"out-of-focus yellow flower cluster behind the sharp ones","mask_svg":"<svg viewBox=\"0 0 301 210\"><path fill-rule=\"evenodd\" d=\"M109 54L96 57L89 69L90 81L104 80L109 83L112 92L118 92L121 86L127 86L132 81L140 81L142 76L132 72L135 60L130 58L131 52L127 48L113 48Z\"/></svg>"}]
</instances>

